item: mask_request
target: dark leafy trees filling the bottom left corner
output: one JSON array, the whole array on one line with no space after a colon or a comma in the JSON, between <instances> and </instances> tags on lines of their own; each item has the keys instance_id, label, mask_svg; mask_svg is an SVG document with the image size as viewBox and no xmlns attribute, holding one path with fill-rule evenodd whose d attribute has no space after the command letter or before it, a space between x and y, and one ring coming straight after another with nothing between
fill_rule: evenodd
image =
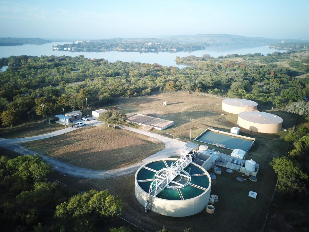
<instances>
[{"instance_id":1,"label":"dark leafy trees filling the bottom left corner","mask_svg":"<svg viewBox=\"0 0 309 232\"><path fill-rule=\"evenodd\" d=\"M3 231L107 231L114 216L121 214L120 196L107 190L76 195L49 181L52 172L38 155L0 157Z\"/></svg>"}]
</instances>

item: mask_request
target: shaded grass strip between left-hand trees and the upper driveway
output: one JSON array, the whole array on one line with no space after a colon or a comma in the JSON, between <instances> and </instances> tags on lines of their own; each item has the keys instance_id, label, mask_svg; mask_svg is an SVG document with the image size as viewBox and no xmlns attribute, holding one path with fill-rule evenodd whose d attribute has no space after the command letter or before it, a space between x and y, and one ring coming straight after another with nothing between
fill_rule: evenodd
<instances>
[{"instance_id":1,"label":"shaded grass strip between left-hand trees and the upper driveway","mask_svg":"<svg viewBox=\"0 0 309 232\"><path fill-rule=\"evenodd\" d=\"M58 123L43 124L42 121L26 122L10 128L10 131L7 127L1 127L0 138L11 139L43 135L63 128L64 126Z\"/></svg>"}]
</instances>

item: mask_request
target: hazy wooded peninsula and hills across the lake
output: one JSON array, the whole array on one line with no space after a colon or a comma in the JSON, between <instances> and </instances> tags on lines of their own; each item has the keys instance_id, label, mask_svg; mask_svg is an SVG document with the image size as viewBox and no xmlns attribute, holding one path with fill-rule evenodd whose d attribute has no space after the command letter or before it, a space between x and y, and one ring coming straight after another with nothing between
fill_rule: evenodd
<instances>
[{"instance_id":1,"label":"hazy wooded peninsula and hills across the lake","mask_svg":"<svg viewBox=\"0 0 309 232\"><path fill-rule=\"evenodd\" d=\"M111 38L102 40L77 41L72 44L57 45L66 51L138 51L138 52L179 52L205 49L210 45L268 45L279 40L262 37L244 37L226 34L179 35L156 38ZM68 50L68 48L70 48Z\"/></svg>"}]
</instances>

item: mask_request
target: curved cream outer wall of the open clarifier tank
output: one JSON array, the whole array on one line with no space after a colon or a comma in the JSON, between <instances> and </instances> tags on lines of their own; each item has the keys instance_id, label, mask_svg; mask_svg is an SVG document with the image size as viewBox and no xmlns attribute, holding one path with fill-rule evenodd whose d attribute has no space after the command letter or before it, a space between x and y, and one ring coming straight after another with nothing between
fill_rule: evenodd
<instances>
[{"instance_id":1,"label":"curved cream outer wall of the open clarifier tank","mask_svg":"<svg viewBox=\"0 0 309 232\"><path fill-rule=\"evenodd\" d=\"M157 197L150 200L148 193L135 181L135 196L138 202L144 205L146 200L150 200L149 210L170 217L186 217L201 212L208 205L210 189L211 187L204 194L188 200L165 200Z\"/></svg>"}]
</instances>

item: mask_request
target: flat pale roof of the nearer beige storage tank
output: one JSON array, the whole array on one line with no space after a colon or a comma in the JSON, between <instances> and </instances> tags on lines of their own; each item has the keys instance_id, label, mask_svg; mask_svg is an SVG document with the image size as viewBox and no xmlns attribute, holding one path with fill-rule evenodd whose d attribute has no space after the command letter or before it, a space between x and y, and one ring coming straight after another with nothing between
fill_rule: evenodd
<instances>
[{"instance_id":1,"label":"flat pale roof of the nearer beige storage tank","mask_svg":"<svg viewBox=\"0 0 309 232\"><path fill-rule=\"evenodd\" d=\"M283 122L283 119L275 114L269 114L259 111L244 111L239 113L238 117L249 122L255 122L260 124L278 124Z\"/></svg>"}]
</instances>

